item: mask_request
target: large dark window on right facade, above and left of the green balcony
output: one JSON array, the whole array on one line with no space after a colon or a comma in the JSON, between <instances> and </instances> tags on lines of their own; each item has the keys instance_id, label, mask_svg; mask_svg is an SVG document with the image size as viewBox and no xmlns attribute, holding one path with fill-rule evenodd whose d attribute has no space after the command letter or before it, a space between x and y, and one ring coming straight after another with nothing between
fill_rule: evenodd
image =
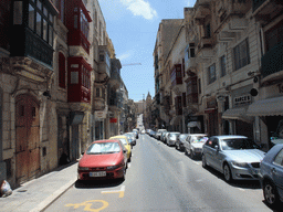
<instances>
[{"instance_id":1,"label":"large dark window on right facade, above and left of the green balcony","mask_svg":"<svg viewBox=\"0 0 283 212\"><path fill-rule=\"evenodd\" d=\"M250 64L249 41L245 39L233 49L234 53L234 71Z\"/></svg>"}]
</instances>

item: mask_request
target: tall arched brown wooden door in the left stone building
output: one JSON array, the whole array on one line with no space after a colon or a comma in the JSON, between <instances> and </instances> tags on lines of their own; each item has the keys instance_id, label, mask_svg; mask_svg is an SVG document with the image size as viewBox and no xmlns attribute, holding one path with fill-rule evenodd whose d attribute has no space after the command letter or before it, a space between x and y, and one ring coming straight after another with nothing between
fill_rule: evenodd
<instances>
[{"instance_id":1,"label":"tall arched brown wooden door in the left stone building","mask_svg":"<svg viewBox=\"0 0 283 212\"><path fill-rule=\"evenodd\" d=\"M22 183L40 170L39 103L30 95L15 98L15 169L17 183Z\"/></svg>"}]
</instances>

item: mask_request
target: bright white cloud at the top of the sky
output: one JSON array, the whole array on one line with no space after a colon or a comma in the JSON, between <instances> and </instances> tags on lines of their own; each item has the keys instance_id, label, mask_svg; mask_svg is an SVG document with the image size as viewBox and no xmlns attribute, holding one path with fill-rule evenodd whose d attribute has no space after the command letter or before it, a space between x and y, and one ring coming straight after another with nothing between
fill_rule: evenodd
<instances>
[{"instance_id":1,"label":"bright white cloud at the top of the sky","mask_svg":"<svg viewBox=\"0 0 283 212\"><path fill-rule=\"evenodd\" d=\"M157 17L157 12L153 9L149 2L145 0L120 0L120 2L127 7L134 15L142 15L147 20L154 19Z\"/></svg>"}]
</instances>

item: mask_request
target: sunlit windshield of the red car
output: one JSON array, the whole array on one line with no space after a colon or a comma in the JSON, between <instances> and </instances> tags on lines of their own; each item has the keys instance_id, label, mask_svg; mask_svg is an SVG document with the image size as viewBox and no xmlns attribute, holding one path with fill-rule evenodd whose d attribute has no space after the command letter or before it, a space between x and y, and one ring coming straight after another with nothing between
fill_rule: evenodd
<instances>
[{"instance_id":1,"label":"sunlit windshield of the red car","mask_svg":"<svg viewBox=\"0 0 283 212\"><path fill-rule=\"evenodd\" d=\"M99 155L99 153L117 153L120 151L117 142L94 142L87 150L87 155Z\"/></svg>"}]
</instances>

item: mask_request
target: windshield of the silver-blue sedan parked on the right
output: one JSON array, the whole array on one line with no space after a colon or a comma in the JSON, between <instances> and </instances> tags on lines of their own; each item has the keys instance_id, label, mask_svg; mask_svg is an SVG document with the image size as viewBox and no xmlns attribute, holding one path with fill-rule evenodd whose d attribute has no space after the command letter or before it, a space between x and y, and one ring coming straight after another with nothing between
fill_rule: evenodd
<instances>
[{"instance_id":1,"label":"windshield of the silver-blue sedan parked on the right","mask_svg":"<svg viewBox=\"0 0 283 212\"><path fill-rule=\"evenodd\" d=\"M230 138L221 140L222 150L258 149L259 146L251 139Z\"/></svg>"}]
</instances>

